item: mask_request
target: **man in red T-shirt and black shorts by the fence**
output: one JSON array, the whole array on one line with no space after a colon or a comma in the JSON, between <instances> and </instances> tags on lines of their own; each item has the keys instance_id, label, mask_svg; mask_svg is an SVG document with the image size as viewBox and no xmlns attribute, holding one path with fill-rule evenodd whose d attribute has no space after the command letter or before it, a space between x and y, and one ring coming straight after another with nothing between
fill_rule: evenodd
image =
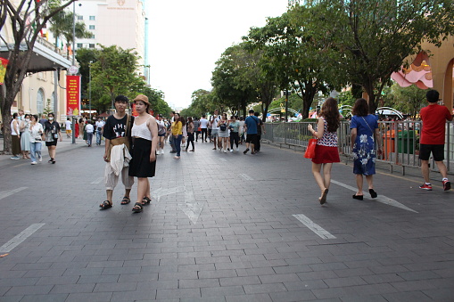
<instances>
[{"instance_id":1,"label":"man in red T-shirt and black shorts by the fence","mask_svg":"<svg viewBox=\"0 0 454 302\"><path fill-rule=\"evenodd\" d=\"M442 174L443 190L450 190L448 170L444 165L443 160L446 121L451 121L452 115L446 106L437 103L439 97L440 94L438 91L428 91L427 94L425 94L425 98L429 105L419 112L421 120L423 121L421 138L419 140L419 159L421 159L421 173L425 181L425 184L420 185L419 188L427 191L432 191L432 184L430 183L429 177L429 159L431 153L440 174Z\"/></svg>"}]
</instances>

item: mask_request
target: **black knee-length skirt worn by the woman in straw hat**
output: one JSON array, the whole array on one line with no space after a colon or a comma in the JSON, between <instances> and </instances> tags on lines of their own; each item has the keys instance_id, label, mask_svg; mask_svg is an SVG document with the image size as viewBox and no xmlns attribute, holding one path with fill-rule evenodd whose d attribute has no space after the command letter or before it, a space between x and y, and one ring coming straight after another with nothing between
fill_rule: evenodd
<instances>
[{"instance_id":1,"label":"black knee-length skirt worn by the woman in straw hat","mask_svg":"<svg viewBox=\"0 0 454 302\"><path fill-rule=\"evenodd\" d=\"M129 176L153 177L156 170L156 160L150 162L152 142L143 138L135 138L129 161Z\"/></svg>"}]
</instances>

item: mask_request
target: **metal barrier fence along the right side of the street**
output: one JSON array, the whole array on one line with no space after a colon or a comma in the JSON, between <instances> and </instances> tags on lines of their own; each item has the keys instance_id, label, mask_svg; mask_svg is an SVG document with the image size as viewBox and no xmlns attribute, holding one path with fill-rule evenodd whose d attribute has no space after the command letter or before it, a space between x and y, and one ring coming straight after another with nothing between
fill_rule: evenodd
<instances>
[{"instance_id":1,"label":"metal barrier fence along the right side of the street","mask_svg":"<svg viewBox=\"0 0 454 302\"><path fill-rule=\"evenodd\" d=\"M307 147L312 135L308 125L315 128L316 123L265 123L266 134L261 137L273 143ZM419 167L419 129L420 121L379 121L378 127L382 136L383 154L377 160L402 167ZM337 130L339 152L351 158L351 130L348 121L342 121ZM454 159L454 124L446 123L445 138L445 164L449 172ZM436 165L431 159L431 168L436 170Z\"/></svg>"}]
</instances>

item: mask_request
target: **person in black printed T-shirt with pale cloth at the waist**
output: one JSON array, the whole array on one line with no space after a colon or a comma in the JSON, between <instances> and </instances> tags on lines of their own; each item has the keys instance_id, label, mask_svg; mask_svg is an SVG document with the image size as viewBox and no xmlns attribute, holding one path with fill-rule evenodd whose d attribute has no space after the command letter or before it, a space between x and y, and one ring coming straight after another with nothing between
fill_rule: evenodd
<instances>
[{"instance_id":1,"label":"person in black printed T-shirt with pale cloth at the waist","mask_svg":"<svg viewBox=\"0 0 454 302\"><path fill-rule=\"evenodd\" d=\"M103 137L105 139L103 160L104 184L107 199L99 205L101 209L111 208L113 189L117 186L121 175L121 182L125 186L125 193L121 200L122 205L131 202L129 194L134 184L134 177L129 176L129 161L131 159L129 151L131 146L131 127L134 117L126 113L128 108L128 98L125 95L118 95L115 98L115 113L107 118Z\"/></svg>"}]
</instances>

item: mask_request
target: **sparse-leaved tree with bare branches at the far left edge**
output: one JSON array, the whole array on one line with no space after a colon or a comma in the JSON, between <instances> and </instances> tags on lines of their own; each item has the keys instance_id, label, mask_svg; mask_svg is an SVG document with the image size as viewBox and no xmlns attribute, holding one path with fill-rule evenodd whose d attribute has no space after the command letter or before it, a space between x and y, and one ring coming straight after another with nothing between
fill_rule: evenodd
<instances>
[{"instance_id":1,"label":"sparse-leaved tree with bare branches at the far left edge","mask_svg":"<svg viewBox=\"0 0 454 302\"><path fill-rule=\"evenodd\" d=\"M8 50L8 67L4 75L4 85L0 86L0 107L4 123L4 152L11 153L11 106L16 95L21 90L23 79L30 70L29 62L33 47L41 29L58 12L73 3L69 1L1 1L0 30L11 22L11 33L14 39L12 46L4 44ZM8 24L8 25L10 25ZM26 45L23 47L22 45Z\"/></svg>"}]
</instances>

